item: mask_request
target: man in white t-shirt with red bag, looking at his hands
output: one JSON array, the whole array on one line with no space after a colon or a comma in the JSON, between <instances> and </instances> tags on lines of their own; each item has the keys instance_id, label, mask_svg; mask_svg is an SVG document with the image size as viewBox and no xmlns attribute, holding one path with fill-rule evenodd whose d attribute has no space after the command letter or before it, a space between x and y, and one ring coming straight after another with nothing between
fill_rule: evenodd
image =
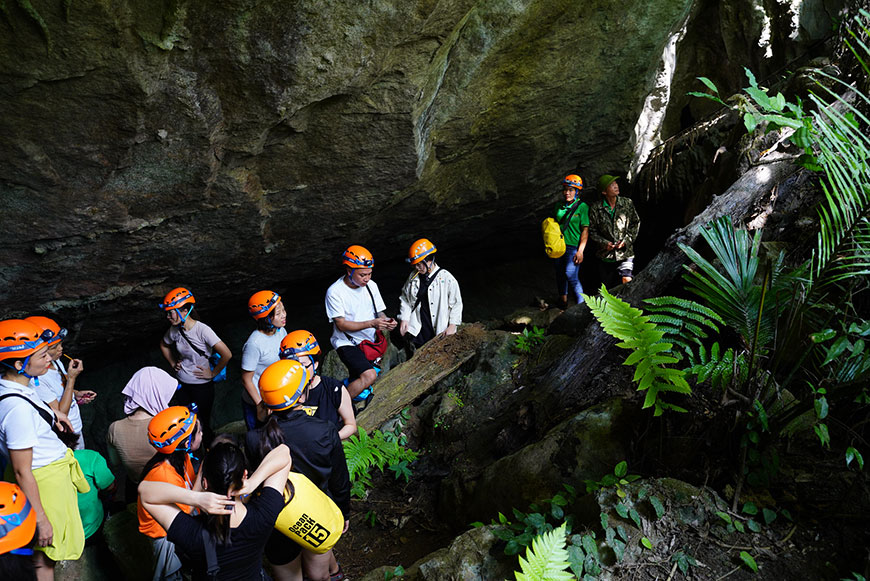
<instances>
[{"instance_id":1,"label":"man in white t-shirt with red bag, looking at his hands","mask_svg":"<svg viewBox=\"0 0 870 581\"><path fill-rule=\"evenodd\" d=\"M371 396L369 388L378 377L372 362L359 348L363 341L375 341L375 331L388 333L395 319L384 314L386 305L372 280L375 262L362 246L344 251L346 273L326 291L326 316L333 325L332 346L348 371L347 391L355 401ZM368 391L367 391L368 390Z\"/></svg>"}]
</instances>

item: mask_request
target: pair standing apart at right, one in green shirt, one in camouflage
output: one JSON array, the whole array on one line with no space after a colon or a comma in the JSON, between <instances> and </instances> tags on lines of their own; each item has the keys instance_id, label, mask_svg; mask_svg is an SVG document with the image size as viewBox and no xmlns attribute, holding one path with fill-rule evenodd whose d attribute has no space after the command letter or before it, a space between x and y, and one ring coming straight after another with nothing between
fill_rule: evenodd
<instances>
[{"instance_id":1,"label":"pair standing apart at right, one in green shirt, one in camouflage","mask_svg":"<svg viewBox=\"0 0 870 581\"><path fill-rule=\"evenodd\" d=\"M553 258L559 306L568 306L569 290L577 303L583 302L580 265L592 244L597 259L597 275L607 287L631 282L634 276L634 242L640 230L640 217L629 198L619 195L616 176L605 174L598 180L600 200L582 201L583 180L571 174L562 180L564 200L556 204L553 218L565 239L565 254Z\"/></svg>"}]
</instances>

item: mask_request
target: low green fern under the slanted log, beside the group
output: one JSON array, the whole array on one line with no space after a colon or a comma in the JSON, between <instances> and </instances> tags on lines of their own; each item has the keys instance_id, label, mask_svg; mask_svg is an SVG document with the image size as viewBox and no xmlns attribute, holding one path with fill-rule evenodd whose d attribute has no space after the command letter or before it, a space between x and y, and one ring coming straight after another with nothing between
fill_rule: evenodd
<instances>
[{"instance_id":1,"label":"low green fern under the slanted log, beside the group","mask_svg":"<svg viewBox=\"0 0 870 581\"><path fill-rule=\"evenodd\" d=\"M350 474L350 493L357 498L363 498L371 488L372 468L381 472L388 468L397 479L404 477L407 482L411 477L410 464L418 457L417 452L405 448L382 431L374 430L369 436L362 428L344 442L344 455Z\"/></svg>"}]
</instances>

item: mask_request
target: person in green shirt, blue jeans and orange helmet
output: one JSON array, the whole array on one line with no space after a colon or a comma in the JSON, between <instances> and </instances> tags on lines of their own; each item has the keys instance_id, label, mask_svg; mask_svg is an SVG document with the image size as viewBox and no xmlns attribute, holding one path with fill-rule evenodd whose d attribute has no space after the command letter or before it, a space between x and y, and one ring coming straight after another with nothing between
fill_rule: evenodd
<instances>
[{"instance_id":1,"label":"person in green shirt, blue jeans and orange helmet","mask_svg":"<svg viewBox=\"0 0 870 581\"><path fill-rule=\"evenodd\" d=\"M583 285L578 271L583 262L583 251L589 237L589 206L580 201L583 180L571 174L562 180L564 202L556 204L554 217L565 237L565 254L553 259L556 269L556 287L559 291L559 307L568 306L568 285L577 296L577 304L583 302Z\"/></svg>"}]
</instances>

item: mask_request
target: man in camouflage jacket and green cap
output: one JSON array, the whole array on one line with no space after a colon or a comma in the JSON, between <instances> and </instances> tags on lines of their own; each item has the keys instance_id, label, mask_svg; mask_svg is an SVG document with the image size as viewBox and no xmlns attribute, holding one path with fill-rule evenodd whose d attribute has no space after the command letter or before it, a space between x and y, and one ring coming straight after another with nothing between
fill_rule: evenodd
<instances>
[{"instance_id":1,"label":"man in camouflage jacket and green cap","mask_svg":"<svg viewBox=\"0 0 870 581\"><path fill-rule=\"evenodd\" d=\"M597 245L601 281L608 288L620 282L631 282L634 276L634 241L640 230L640 216L634 203L619 196L616 180L616 176L601 176L598 180L601 203L592 204L589 212L589 237Z\"/></svg>"}]
</instances>

